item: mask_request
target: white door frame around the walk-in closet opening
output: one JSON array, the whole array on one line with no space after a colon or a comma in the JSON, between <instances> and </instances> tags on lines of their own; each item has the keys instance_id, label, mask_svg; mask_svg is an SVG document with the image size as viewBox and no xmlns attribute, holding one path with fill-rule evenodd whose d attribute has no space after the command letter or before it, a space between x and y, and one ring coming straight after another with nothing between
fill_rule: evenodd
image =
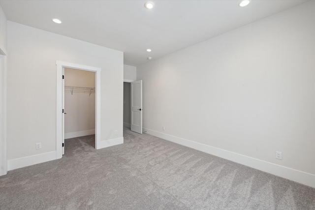
<instances>
[{"instance_id":1,"label":"white door frame around the walk-in closet opening","mask_svg":"<svg viewBox=\"0 0 315 210\"><path fill-rule=\"evenodd\" d=\"M98 150L98 143L101 141L100 130L100 72L101 68L86 66L63 61L56 61L57 65L57 104L56 104L56 159L63 157L63 68L74 68L95 72L95 149Z\"/></svg>"}]
</instances>

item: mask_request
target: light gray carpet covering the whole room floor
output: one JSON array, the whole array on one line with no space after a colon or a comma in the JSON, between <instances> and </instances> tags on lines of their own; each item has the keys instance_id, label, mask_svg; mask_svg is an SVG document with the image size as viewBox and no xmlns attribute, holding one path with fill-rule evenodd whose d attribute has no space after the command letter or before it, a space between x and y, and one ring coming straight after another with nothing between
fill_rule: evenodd
<instances>
[{"instance_id":1,"label":"light gray carpet covering the whole room floor","mask_svg":"<svg viewBox=\"0 0 315 210\"><path fill-rule=\"evenodd\" d=\"M62 159L0 177L1 210L315 210L315 188L148 134L95 150L66 140ZM93 147L92 147L93 146Z\"/></svg>"}]
</instances>

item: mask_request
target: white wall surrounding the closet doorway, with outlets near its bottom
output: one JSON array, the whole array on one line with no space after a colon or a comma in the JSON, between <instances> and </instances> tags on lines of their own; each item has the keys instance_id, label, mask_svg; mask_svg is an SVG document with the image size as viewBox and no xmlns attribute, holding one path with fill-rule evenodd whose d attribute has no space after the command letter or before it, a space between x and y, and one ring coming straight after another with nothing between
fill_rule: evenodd
<instances>
[{"instance_id":1,"label":"white wall surrounding the closet doorway, with outlets near its bottom","mask_svg":"<svg viewBox=\"0 0 315 210\"><path fill-rule=\"evenodd\" d=\"M123 52L10 21L8 51L9 163L56 151L56 60L102 69L101 140L123 138Z\"/></svg>"}]
</instances>

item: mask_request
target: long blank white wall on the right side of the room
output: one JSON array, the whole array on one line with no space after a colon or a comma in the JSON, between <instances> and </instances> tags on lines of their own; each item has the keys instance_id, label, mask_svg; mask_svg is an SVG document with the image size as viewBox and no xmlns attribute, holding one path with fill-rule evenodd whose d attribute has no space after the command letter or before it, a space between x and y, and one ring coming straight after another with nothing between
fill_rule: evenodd
<instances>
[{"instance_id":1,"label":"long blank white wall on the right side of the room","mask_svg":"<svg viewBox=\"0 0 315 210\"><path fill-rule=\"evenodd\" d=\"M315 187L314 11L309 1L137 66L143 127L309 173Z\"/></svg>"}]
</instances>

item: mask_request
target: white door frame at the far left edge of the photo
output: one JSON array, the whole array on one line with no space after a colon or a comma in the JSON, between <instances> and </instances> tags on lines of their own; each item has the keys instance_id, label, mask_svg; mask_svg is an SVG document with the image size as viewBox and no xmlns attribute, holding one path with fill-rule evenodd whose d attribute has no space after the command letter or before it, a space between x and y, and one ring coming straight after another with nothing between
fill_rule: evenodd
<instances>
[{"instance_id":1,"label":"white door frame at the far left edge of the photo","mask_svg":"<svg viewBox=\"0 0 315 210\"><path fill-rule=\"evenodd\" d=\"M0 46L0 176L6 175L7 139L6 139L6 51Z\"/></svg>"}]
</instances>

